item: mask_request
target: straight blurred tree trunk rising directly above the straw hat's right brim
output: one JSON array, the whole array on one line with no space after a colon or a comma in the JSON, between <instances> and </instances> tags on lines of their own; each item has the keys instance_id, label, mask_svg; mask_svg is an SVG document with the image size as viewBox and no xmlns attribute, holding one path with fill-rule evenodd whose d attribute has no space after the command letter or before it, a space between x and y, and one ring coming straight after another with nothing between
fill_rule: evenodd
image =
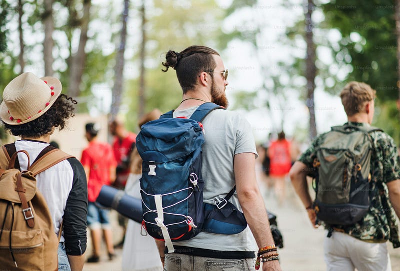
<instances>
[{"instance_id":1,"label":"straight blurred tree trunk rising directly above the straw hat's right brim","mask_svg":"<svg viewBox=\"0 0 400 271\"><path fill-rule=\"evenodd\" d=\"M54 21L52 13L52 4L54 0L44 0L44 41L43 41L43 58L44 58L44 75L53 76L52 64L54 62L52 50L54 46L52 34L54 31Z\"/></svg>"}]
</instances>

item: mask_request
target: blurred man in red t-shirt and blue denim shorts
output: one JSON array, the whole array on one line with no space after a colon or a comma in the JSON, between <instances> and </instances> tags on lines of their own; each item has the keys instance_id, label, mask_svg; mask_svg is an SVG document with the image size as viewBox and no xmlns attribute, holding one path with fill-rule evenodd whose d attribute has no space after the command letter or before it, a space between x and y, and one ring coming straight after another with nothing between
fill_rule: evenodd
<instances>
[{"instance_id":1,"label":"blurred man in red t-shirt and blue denim shorts","mask_svg":"<svg viewBox=\"0 0 400 271\"><path fill-rule=\"evenodd\" d=\"M90 229L90 237L93 246L93 255L87 259L87 262L96 263L100 260L101 228L107 247L108 259L112 260L114 257L108 210L98 208L94 202L100 193L101 186L109 185L114 182L116 161L111 146L97 140L99 128L96 124L87 123L85 125L85 131L85 137L89 145L82 151L80 162L87 176L87 227Z\"/></svg>"}]
</instances>

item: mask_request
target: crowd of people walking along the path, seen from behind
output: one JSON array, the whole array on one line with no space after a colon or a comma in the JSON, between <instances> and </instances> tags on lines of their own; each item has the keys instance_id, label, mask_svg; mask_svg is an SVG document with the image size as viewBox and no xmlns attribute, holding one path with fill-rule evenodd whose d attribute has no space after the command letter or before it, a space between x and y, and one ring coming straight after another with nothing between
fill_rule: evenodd
<instances>
[{"instance_id":1,"label":"crowd of people walking along the path, seen from behind","mask_svg":"<svg viewBox=\"0 0 400 271\"><path fill-rule=\"evenodd\" d=\"M200 105L208 102L227 108L225 89L228 71L215 50L205 46L189 46L180 52L170 50L162 65L164 72L168 68L176 71L182 88L182 99L176 101L179 105L172 112L173 118L190 118ZM5 87L0 118L5 129L14 136L20 136L20 140L14 142L15 150L25 150L30 157L29 162L29 158L26 159L22 153L17 154L20 170L29 169L49 145L54 130L63 129L66 120L73 117L76 101L61 94L61 89L58 79L38 78L30 72L22 73ZM109 123L109 132L114 136L112 145L98 140L99 127L94 122L88 122L85 125L88 145L81 153L80 162L76 158L68 158L36 176L37 189L49 207L51 227L54 234L60 236L57 254L59 270L81 271L85 261L100 262L101 237L109 260L115 257L114 247L123 245L121 269L124 271L281 270L279 253L256 180L255 159L258 156L265 184L268 191L274 192L276 201L279 204L285 201L286 183L289 183L290 177L311 226L325 227L327 270L391 270L386 241L389 240L393 247L400 247L396 222L396 217L400 217L400 160L396 145L386 133L370 126L375 91L369 85L350 82L341 91L340 98L348 122L317 136L301 154L297 143L287 140L283 131L278 132L276 137L271 134L268 142L256 149L250 124L242 115L229 110L210 111L201 121L204 131L201 153L203 202L215 204L218 199L230 194L229 190L233 187L229 202L244 214L247 227L236 234L200 231L192 238L173 242L173 251L166 249L163 240L142 236L142 225L127 221L122 216L119 216L118 223L123 228L123 234L114 245L109 210L95 204L101 186L112 185L125 190L131 197L140 198L139 179L142 172L154 176L155 172L142 170L142 158L135 144L136 135L125 129L123 121L115 119ZM139 127L158 119L161 114L157 109L152 110L138 121ZM333 140L331 133L334 131L343 135ZM345 135L353 135L354 131L361 131L364 141L354 139L356 145L346 148L368 158L356 161L350 170L336 166L335 170L323 172L324 167L328 168L326 161L342 158L339 154L329 153L333 150L329 144L334 141L346 146ZM360 149L360 146L367 148ZM346 157L350 159L348 153ZM323 178L338 176L335 180L339 182L340 193L331 188L327 192L332 193L323 194L326 191L316 188L318 201L314 201L308 191L308 176L316 178L316 184L321 187L326 181ZM353 183L357 183L355 189ZM363 186L360 186L361 183ZM322 217L324 212L328 216L335 216L333 212L338 212L337 208L335 211L329 209L329 204L336 203L332 196L334 193L345 198L343 202L351 203L353 198L361 197L359 191L365 190L368 193L362 194L362 197L367 198L367 205L365 210L361 210L358 220L343 224L338 221L328 223ZM348 196L344 195L346 192ZM264 196L271 197L272 194ZM356 210L357 214L361 211ZM92 251L86 252L87 255L86 223L92 244ZM3 242L1 235L0 242ZM13 262L18 263L18 256L14 259L11 244L9 246Z\"/></svg>"}]
</instances>

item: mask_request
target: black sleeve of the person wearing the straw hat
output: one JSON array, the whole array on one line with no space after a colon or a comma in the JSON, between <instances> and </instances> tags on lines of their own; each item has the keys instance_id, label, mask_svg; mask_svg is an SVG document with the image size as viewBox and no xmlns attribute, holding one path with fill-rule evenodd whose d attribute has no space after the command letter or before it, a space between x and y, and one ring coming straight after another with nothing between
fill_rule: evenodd
<instances>
[{"instance_id":1,"label":"black sleeve of the person wearing the straw hat","mask_svg":"<svg viewBox=\"0 0 400 271\"><path fill-rule=\"evenodd\" d=\"M73 170L72 189L64 210L64 239L67 255L79 256L86 250L87 183L82 164L67 159Z\"/></svg>"}]
</instances>

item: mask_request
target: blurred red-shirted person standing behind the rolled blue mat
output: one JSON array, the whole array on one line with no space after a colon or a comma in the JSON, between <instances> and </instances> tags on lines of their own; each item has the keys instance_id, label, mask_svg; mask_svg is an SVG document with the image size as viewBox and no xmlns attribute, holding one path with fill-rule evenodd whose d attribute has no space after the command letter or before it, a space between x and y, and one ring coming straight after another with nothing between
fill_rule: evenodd
<instances>
[{"instance_id":1,"label":"blurred red-shirted person standing behind the rolled blue mat","mask_svg":"<svg viewBox=\"0 0 400 271\"><path fill-rule=\"evenodd\" d=\"M112 150L116 160L116 179L113 184L118 189L124 189L129 176L129 157L134 148L136 134L125 129L124 123L119 119L114 119L109 124L109 131L114 140ZM115 245L116 248L121 248L125 238L127 219L118 214L118 224L122 227L122 239Z\"/></svg>"}]
</instances>

